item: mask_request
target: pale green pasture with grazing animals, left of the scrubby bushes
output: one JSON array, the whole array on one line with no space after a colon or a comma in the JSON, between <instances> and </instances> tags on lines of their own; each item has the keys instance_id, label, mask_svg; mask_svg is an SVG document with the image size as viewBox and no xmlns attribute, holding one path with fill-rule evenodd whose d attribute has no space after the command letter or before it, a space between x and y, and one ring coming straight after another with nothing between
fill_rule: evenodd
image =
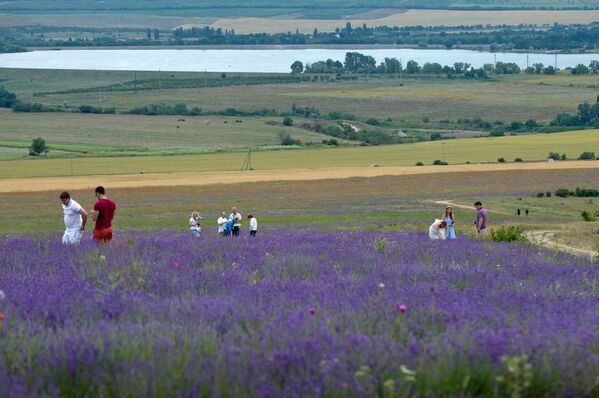
<instances>
[{"instance_id":1,"label":"pale green pasture with grazing animals, left of the scrubby bushes","mask_svg":"<svg viewBox=\"0 0 599 398\"><path fill-rule=\"evenodd\" d=\"M296 127L283 127L280 117L22 114L1 109L0 118L0 147L28 148L33 138L43 137L52 155L56 150L113 156L277 146L280 131L290 133L302 143L320 144L329 138ZM301 119L295 121L301 123ZM13 152L10 154L13 156ZM27 157L28 151L23 150L22 156ZM0 152L2 158L6 157Z\"/></svg>"}]
</instances>

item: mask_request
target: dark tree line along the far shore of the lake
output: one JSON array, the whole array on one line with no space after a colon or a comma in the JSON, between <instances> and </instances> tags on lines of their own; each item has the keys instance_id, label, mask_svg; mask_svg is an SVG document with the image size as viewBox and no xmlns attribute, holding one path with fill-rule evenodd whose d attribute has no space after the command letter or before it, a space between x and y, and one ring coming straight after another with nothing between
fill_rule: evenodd
<instances>
[{"instance_id":1,"label":"dark tree line along the far shore of the lake","mask_svg":"<svg viewBox=\"0 0 599 398\"><path fill-rule=\"evenodd\" d=\"M58 31L64 28L56 28ZM81 28L79 28L81 29ZM77 28L73 28L77 31ZM441 27L369 27L363 24L353 27L347 22L345 27L332 32L312 33L251 33L237 34L234 29L190 27L174 31L160 31L148 28L143 38L121 38L114 30L92 32L96 37L69 37L48 39L43 35L34 36L34 31L20 28L0 29L0 51L11 51L23 47L64 46L156 46L156 45L343 45L343 44L386 44L413 47L487 47L490 51L530 50L530 51L592 51L599 48L599 24L553 25L535 27L532 25L474 25ZM4 50L2 50L4 49Z\"/></svg>"}]
</instances>

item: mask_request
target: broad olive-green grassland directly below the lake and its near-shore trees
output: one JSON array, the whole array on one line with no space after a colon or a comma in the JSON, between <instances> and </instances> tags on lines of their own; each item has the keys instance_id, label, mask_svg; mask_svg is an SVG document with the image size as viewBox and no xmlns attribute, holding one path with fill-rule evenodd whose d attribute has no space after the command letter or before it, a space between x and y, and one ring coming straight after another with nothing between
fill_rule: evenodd
<instances>
[{"instance_id":1,"label":"broad olive-green grassland directly below the lake and its near-shore trees","mask_svg":"<svg viewBox=\"0 0 599 398\"><path fill-rule=\"evenodd\" d=\"M237 79L237 74L227 79ZM257 79L257 75L239 75ZM268 75L267 75L268 76ZM275 75L276 76L276 75ZM279 75L280 76L280 75ZM163 89L137 93L131 82L133 72L35 71L0 69L0 80L7 89L28 102L78 107L94 105L115 107L118 111L150 103L174 105L204 111L236 108L255 111L274 108L289 112L293 104L315 106L322 114L344 112L361 120L378 118L393 129L468 130L471 126L448 123L457 119L482 118L489 122L535 119L551 121L559 112L575 112L581 102L594 102L599 90L599 75L572 76L494 76L488 81L449 80L444 77L374 78L336 83L286 83L226 87L197 87L201 73L138 72L137 79L149 87ZM221 83L219 83L221 82ZM123 84L128 91L101 91L101 87ZM208 74L207 84L224 84L220 74ZM195 85L195 86L194 86ZM140 87L142 84L140 83ZM177 89L166 87L180 87ZM195 87L195 88L191 88ZM46 94L59 90L87 91L72 94ZM23 115L22 117L27 118ZM424 118L429 122L425 123Z\"/></svg>"}]
</instances>

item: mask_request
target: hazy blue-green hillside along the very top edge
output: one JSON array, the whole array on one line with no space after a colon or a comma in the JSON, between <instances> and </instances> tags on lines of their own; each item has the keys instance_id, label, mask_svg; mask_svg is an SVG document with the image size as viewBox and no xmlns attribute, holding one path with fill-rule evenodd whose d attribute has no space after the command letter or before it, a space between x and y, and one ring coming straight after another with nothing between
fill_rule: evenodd
<instances>
[{"instance_id":1,"label":"hazy blue-green hillside along the very top edge","mask_svg":"<svg viewBox=\"0 0 599 398\"><path fill-rule=\"evenodd\" d=\"M226 4L222 0L5 0L0 3L0 13L144 12L182 15L182 12L188 11L214 17L291 14L296 18L342 18L360 13L390 12L389 8L580 9L599 8L599 0L230 0Z\"/></svg>"}]
</instances>

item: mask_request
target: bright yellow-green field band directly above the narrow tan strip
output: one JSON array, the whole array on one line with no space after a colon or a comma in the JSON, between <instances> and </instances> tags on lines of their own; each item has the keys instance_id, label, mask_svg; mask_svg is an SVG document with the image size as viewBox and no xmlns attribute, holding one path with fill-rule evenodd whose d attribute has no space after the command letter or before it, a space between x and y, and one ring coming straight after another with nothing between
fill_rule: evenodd
<instances>
[{"instance_id":1,"label":"bright yellow-green field band directly above the narrow tan strip","mask_svg":"<svg viewBox=\"0 0 599 398\"><path fill-rule=\"evenodd\" d=\"M450 164L546 159L549 152L577 158L583 151L599 153L599 130L537 134L497 138L444 140L378 147L258 151L252 158L256 170L327 167L413 166L420 161L432 164L443 157ZM76 175L168 173L184 171L239 170L246 154L89 158L75 160ZM70 175L69 159L28 159L1 163L0 178Z\"/></svg>"}]
</instances>

